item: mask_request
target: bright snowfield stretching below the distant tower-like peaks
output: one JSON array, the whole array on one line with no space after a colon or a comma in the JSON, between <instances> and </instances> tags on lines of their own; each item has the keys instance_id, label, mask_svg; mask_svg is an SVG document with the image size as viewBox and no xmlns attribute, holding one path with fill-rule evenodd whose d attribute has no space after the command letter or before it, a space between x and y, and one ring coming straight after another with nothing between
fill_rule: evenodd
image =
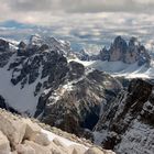
<instances>
[{"instance_id":1,"label":"bright snowfield stretching below the distant tower-like peaks","mask_svg":"<svg viewBox=\"0 0 154 154\"><path fill-rule=\"evenodd\" d=\"M109 73L114 77L127 77L127 78L154 78L154 62L152 61L151 66L146 67L138 66L138 63L125 64L122 62L102 62L102 61L79 61L78 58L68 59L68 62L81 63L85 67L96 68L101 72Z\"/></svg>"}]
</instances>

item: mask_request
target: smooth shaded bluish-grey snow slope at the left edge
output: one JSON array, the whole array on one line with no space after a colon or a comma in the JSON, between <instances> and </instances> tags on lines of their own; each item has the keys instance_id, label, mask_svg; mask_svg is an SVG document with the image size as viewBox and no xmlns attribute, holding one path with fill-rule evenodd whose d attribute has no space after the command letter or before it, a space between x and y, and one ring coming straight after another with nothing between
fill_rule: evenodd
<instances>
[{"instance_id":1,"label":"smooth shaded bluish-grey snow slope at the left edge","mask_svg":"<svg viewBox=\"0 0 154 154\"><path fill-rule=\"evenodd\" d=\"M10 58L10 63L14 62L16 58L15 54ZM34 84L25 85L23 89L21 89L21 85L18 84L13 86L11 80L12 72L8 72L8 67L10 65L6 65L3 68L0 68L0 95L6 99L6 102L18 110L21 113L30 113L33 116L36 110L38 96L34 97L35 86L38 81L43 81L45 79L40 79Z\"/></svg>"}]
</instances>

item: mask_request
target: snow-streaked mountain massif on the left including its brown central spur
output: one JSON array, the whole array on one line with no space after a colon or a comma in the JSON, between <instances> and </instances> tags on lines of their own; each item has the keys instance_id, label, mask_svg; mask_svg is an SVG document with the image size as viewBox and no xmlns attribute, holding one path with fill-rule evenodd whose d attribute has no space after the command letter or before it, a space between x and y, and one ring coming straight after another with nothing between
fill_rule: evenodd
<instances>
[{"instance_id":1,"label":"snow-streaked mountain massif on the left including its brown central spur","mask_svg":"<svg viewBox=\"0 0 154 154\"><path fill-rule=\"evenodd\" d=\"M0 69L1 107L78 135L92 130L122 86L110 75L68 63L69 52L68 43L37 35L9 47L11 55Z\"/></svg>"}]
</instances>

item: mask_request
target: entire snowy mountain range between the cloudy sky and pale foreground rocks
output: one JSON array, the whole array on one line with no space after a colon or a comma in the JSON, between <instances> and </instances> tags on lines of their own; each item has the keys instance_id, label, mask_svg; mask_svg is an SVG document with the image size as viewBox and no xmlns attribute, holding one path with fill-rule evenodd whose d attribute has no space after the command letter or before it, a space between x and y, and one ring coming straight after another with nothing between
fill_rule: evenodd
<instances>
[{"instance_id":1,"label":"entire snowy mountain range between the cloudy sky and pale foreground rocks","mask_svg":"<svg viewBox=\"0 0 154 154\"><path fill-rule=\"evenodd\" d=\"M134 38L127 44L117 37L107 53L108 61L100 59L100 54L90 61L84 51L77 54L68 42L54 37L32 35L18 44L1 38L0 108L37 118L120 154L151 154L151 136L145 146L138 142L136 150L130 142L136 144L138 136L143 139L138 133L146 135L146 129L153 133L153 85L136 79L123 87L117 78L152 80L152 59ZM77 58L81 55L88 62ZM136 131L139 125L142 131Z\"/></svg>"}]
</instances>

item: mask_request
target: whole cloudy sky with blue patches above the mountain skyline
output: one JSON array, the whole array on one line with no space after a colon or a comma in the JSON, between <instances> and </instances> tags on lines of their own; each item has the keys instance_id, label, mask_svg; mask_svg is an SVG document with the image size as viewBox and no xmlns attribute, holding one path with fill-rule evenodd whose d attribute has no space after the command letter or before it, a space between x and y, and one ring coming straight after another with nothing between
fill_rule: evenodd
<instances>
[{"instance_id":1,"label":"whole cloudy sky with blue patches above the mountain skyline","mask_svg":"<svg viewBox=\"0 0 154 154\"><path fill-rule=\"evenodd\" d=\"M33 33L96 48L117 36L138 36L150 46L154 0L0 0L0 36Z\"/></svg>"}]
</instances>

